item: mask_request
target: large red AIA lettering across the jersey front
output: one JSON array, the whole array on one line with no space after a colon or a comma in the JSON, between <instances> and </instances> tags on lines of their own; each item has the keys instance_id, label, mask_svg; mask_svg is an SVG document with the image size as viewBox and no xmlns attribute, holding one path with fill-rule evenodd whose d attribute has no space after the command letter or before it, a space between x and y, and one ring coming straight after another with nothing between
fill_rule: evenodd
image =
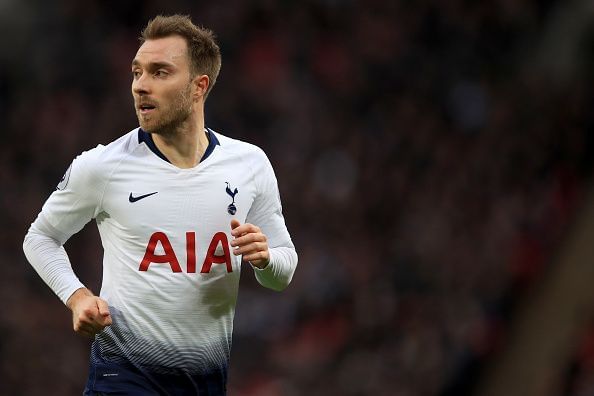
<instances>
[{"instance_id":1,"label":"large red AIA lettering across the jersey front","mask_svg":"<svg viewBox=\"0 0 594 396\"><path fill-rule=\"evenodd\" d=\"M163 247L164 254L155 254L155 249L158 244L161 244ZM222 245L223 248L222 256L215 255L219 244ZM149 266L153 263L169 264L173 272L182 272L177 255L171 246L169 238L164 232L155 232L151 235L138 270L148 271ZM206 256L204 257L204 261L202 262L200 273L210 273L213 264L225 264L227 272L233 272L231 255L229 254L229 240L224 232L217 232L213 235ZM193 231L186 232L186 272L196 272L196 233Z\"/></svg>"}]
</instances>

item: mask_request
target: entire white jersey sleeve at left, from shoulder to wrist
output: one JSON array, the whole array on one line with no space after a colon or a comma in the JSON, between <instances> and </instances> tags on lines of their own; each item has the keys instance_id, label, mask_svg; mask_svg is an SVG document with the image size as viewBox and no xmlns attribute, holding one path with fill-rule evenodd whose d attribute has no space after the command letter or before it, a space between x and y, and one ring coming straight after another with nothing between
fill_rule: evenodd
<instances>
[{"instance_id":1,"label":"entire white jersey sleeve at left, from shoulder to wrist","mask_svg":"<svg viewBox=\"0 0 594 396\"><path fill-rule=\"evenodd\" d=\"M64 303L84 287L62 245L101 212L104 182L96 172L100 149L87 151L72 162L23 242L33 268Z\"/></svg>"}]
</instances>

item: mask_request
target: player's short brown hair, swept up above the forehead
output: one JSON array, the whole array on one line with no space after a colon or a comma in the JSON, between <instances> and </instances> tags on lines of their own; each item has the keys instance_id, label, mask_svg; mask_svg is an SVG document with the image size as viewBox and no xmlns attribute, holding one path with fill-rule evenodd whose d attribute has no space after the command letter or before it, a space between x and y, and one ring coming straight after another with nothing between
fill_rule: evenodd
<instances>
[{"instance_id":1,"label":"player's short brown hair, swept up above the forehead","mask_svg":"<svg viewBox=\"0 0 594 396\"><path fill-rule=\"evenodd\" d=\"M188 15L157 15L146 25L140 36L140 43L169 36L181 36L188 44L190 74L206 74L210 84L205 97L217 81L221 70L221 50L212 30L196 26Z\"/></svg>"}]
</instances>

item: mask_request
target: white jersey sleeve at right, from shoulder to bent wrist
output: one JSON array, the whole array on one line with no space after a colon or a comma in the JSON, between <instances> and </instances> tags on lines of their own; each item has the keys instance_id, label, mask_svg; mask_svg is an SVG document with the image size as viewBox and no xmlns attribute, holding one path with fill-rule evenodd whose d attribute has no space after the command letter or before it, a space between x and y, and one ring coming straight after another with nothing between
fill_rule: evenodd
<instances>
[{"instance_id":1,"label":"white jersey sleeve at right, from shoulder to bent wrist","mask_svg":"<svg viewBox=\"0 0 594 396\"><path fill-rule=\"evenodd\" d=\"M298 257L283 217L274 170L263 152L259 159L255 175L258 194L246 222L257 225L266 235L270 263L264 269L252 267L262 286L280 291L291 282Z\"/></svg>"}]
</instances>

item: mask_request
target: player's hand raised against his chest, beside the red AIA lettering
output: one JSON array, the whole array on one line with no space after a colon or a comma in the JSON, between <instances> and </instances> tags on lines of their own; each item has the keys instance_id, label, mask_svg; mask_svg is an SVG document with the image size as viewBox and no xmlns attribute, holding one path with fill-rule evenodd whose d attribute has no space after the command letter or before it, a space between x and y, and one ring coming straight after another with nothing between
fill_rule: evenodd
<instances>
[{"instance_id":1,"label":"player's hand raised against his chest, beside the red AIA lettering","mask_svg":"<svg viewBox=\"0 0 594 396\"><path fill-rule=\"evenodd\" d=\"M244 261L249 261L254 267L265 268L270 262L268 243L266 235L262 234L260 228L253 224L241 224L239 221L231 220L231 241L233 254L243 255Z\"/></svg>"}]
</instances>

